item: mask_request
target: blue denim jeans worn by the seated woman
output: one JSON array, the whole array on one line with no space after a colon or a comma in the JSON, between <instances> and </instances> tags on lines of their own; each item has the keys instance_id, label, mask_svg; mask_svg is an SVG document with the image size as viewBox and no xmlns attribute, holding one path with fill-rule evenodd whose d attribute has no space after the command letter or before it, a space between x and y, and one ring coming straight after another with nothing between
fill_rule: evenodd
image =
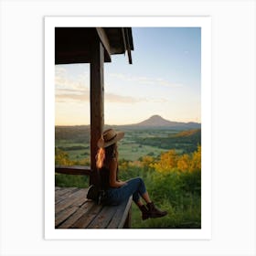
<instances>
[{"instance_id":1,"label":"blue denim jeans worn by the seated woman","mask_svg":"<svg viewBox=\"0 0 256 256\"><path fill-rule=\"evenodd\" d=\"M106 191L105 203L108 205L119 205L133 195L136 203L146 192L144 180L141 177L129 179L122 187L111 187Z\"/></svg>"}]
</instances>

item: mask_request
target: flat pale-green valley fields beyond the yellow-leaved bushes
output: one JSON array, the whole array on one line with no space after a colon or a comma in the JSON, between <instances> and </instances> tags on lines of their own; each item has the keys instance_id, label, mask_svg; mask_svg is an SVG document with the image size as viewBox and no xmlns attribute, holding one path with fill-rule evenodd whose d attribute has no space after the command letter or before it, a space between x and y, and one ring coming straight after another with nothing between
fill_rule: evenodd
<instances>
[{"instance_id":1,"label":"flat pale-green valley fields beyond the yellow-leaved bushes","mask_svg":"<svg viewBox=\"0 0 256 256\"><path fill-rule=\"evenodd\" d=\"M82 127L56 129L55 146L68 153L72 161L90 159L90 132ZM178 137L182 132L170 129L126 129L124 133L123 140L118 144L119 158L130 161L139 160L144 155L157 157L170 149L176 149L179 154L193 152L201 139L199 132Z\"/></svg>"}]
</instances>

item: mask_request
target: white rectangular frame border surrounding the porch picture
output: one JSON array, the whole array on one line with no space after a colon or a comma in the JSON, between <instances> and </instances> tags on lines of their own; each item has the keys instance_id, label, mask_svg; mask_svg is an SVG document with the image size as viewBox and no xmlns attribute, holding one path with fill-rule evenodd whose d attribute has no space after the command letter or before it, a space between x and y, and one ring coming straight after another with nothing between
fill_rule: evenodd
<instances>
[{"instance_id":1,"label":"white rectangular frame border surrounding the porch picture","mask_svg":"<svg viewBox=\"0 0 256 256\"><path fill-rule=\"evenodd\" d=\"M118 21L117 21L118 19ZM116 26L118 24L118 26ZM201 27L202 218L201 229L55 229L54 204L54 28ZM49 240L209 240L211 239L211 18L45 17L45 238Z\"/></svg>"}]
</instances>

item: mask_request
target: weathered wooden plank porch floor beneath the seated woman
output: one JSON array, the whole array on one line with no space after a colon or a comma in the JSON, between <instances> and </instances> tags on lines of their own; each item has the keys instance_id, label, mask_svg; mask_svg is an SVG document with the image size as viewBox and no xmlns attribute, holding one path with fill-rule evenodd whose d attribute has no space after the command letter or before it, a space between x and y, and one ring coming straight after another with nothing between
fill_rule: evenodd
<instances>
[{"instance_id":1,"label":"weathered wooden plank porch floor beneath the seated woman","mask_svg":"<svg viewBox=\"0 0 256 256\"><path fill-rule=\"evenodd\" d=\"M55 187L56 229L123 228L132 197L121 206L101 206L86 198L88 188Z\"/></svg>"}]
</instances>

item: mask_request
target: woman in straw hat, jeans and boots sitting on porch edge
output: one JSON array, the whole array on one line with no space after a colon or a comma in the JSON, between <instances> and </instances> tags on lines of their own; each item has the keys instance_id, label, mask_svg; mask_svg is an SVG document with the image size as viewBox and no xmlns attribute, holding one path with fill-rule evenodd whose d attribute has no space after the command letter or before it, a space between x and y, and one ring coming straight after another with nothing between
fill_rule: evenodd
<instances>
[{"instance_id":1,"label":"woman in straw hat, jeans and boots sitting on porch edge","mask_svg":"<svg viewBox=\"0 0 256 256\"><path fill-rule=\"evenodd\" d=\"M116 133L113 129L109 129L98 141L100 149L96 155L96 165L101 177L101 188L105 191L104 202L108 205L118 205L133 195L134 203L142 211L142 219L164 217L167 212L155 208L141 177L125 182L118 179L117 142L123 136L123 132ZM143 204L141 197L144 198L146 205Z\"/></svg>"}]
</instances>

